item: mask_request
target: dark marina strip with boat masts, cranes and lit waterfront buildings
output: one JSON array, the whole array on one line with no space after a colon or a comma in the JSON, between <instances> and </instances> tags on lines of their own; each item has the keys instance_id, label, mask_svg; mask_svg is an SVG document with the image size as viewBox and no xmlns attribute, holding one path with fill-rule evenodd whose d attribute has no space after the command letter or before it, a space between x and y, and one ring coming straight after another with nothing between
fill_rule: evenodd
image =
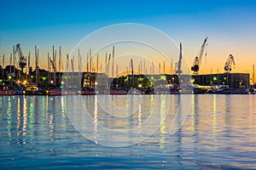
<instances>
[{"instance_id":1,"label":"dark marina strip with boat masts, cranes and lit waterfront buildings","mask_svg":"<svg viewBox=\"0 0 256 170\"><path fill-rule=\"evenodd\" d=\"M39 52L35 46L36 60L33 70L30 61L31 53L26 57L20 44L17 44L13 47L13 54L10 55L10 65L5 66L3 55L0 95L131 94L129 93L131 89L137 89L138 94L255 94L255 84L250 83L250 80L254 82L254 72L253 79L250 78L249 73L231 72L232 66L235 65L235 57L232 54L226 60L224 73L199 74L201 59L207 55L205 48L207 48L207 38L203 42L198 56L195 57L191 67L192 75L182 71L183 53L180 43L179 60L175 67L172 62L164 61L163 67L161 67L161 63L156 66L152 61L148 74L145 60L140 60L138 70L136 70L134 69L136 63L131 58L124 72L119 73L118 63L116 64L116 75L114 76L114 54L115 50L118 50L114 46L109 56L106 53L103 63L99 63L99 54L94 54L93 57L90 50L90 53L87 53L87 62L83 64L79 50L79 65L76 67L74 56L69 59L67 54L65 69L60 47L57 71L57 50L54 46L52 47L52 58L48 53L47 70L40 69ZM12 56L14 57L12 58ZM16 58L19 60L15 60ZM96 60L96 65L93 65L94 60ZM110 68L110 64L112 68ZM100 69L99 65L101 65ZM170 65L169 74L166 71L166 65ZM159 71L154 71L156 69ZM112 72L112 76L110 72ZM182 88L183 84L186 84L186 88L190 88L189 92Z\"/></svg>"}]
</instances>

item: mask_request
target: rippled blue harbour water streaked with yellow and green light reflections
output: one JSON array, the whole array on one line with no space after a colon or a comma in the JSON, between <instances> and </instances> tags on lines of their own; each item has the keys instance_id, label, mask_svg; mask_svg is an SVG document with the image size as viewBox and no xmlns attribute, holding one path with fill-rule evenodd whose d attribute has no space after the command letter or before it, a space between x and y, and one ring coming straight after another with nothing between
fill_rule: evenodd
<instances>
[{"instance_id":1,"label":"rippled blue harbour water streaked with yellow and green light reflections","mask_svg":"<svg viewBox=\"0 0 256 170\"><path fill-rule=\"evenodd\" d=\"M169 96L170 97L170 96ZM94 140L84 139L67 117L67 102L76 96L0 96L0 167L7 168L256 168L255 95L192 95L189 116L170 134L178 95L162 98L154 108L148 95L128 120L109 122L97 96L82 96L93 118ZM127 100L114 96L116 105ZM74 105L73 111L76 105ZM158 111L159 129L140 144L111 148L98 144L99 126L142 130L150 112ZM182 117L177 117L182 118ZM180 122L174 123L179 126ZM148 129L150 131L151 129Z\"/></svg>"}]
</instances>

